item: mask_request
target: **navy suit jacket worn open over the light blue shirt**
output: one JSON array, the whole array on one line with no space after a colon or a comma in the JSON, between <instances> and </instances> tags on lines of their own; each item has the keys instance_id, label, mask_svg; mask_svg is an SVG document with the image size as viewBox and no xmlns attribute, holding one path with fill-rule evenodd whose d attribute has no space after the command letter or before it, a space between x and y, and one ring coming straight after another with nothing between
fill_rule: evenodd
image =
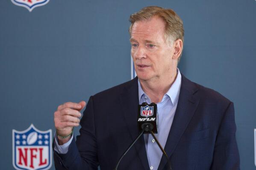
<instances>
[{"instance_id":1,"label":"navy suit jacket worn open over the light blue shirt","mask_svg":"<svg viewBox=\"0 0 256 170\"><path fill-rule=\"evenodd\" d=\"M113 170L140 133L138 78L91 96L80 135L67 154L54 151L56 170ZM179 101L165 144L173 170L239 170L234 106L212 89L182 75ZM162 156L158 170L167 170ZM124 156L119 170L149 170L144 138Z\"/></svg>"}]
</instances>

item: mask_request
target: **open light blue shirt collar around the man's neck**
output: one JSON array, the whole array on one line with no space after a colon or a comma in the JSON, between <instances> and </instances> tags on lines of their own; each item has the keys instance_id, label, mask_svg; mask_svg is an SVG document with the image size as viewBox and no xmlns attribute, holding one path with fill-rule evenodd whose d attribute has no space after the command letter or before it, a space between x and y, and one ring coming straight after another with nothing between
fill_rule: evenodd
<instances>
[{"instance_id":1,"label":"open light blue shirt collar around the man's neck","mask_svg":"<svg viewBox=\"0 0 256 170\"><path fill-rule=\"evenodd\" d=\"M179 98L179 90L181 86L181 74L179 72L179 69L177 68L177 77L174 81L174 83L171 85L170 89L166 92L164 95L162 101L164 100L165 96L167 95L170 99L172 104L176 104ZM141 101L141 97L147 94L143 91L141 88L141 83L138 79L138 100Z\"/></svg>"}]
</instances>

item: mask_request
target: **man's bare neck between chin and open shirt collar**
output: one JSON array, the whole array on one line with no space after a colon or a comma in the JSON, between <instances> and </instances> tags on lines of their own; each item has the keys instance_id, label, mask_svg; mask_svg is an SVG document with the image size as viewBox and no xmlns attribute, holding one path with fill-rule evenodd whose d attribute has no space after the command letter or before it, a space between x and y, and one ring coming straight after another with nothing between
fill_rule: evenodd
<instances>
[{"instance_id":1,"label":"man's bare neck between chin and open shirt collar","mask_svg":"<svg viewBox=\"0 0 256 170\"><path fill-rule=\"evenodd\" d=\"M162 78L149 81L139 80L141 88L150 98L151 102L159 103L174 83L177 73L178 72L176 70L173 74Z\"/></svg>"}]
</instances>

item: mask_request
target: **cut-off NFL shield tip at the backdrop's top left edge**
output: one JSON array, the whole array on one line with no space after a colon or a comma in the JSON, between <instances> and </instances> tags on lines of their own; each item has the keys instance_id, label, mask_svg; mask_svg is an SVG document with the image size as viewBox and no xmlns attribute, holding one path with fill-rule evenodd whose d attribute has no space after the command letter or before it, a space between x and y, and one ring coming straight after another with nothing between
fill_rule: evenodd
<instances>
[{"instance_id":1,"label":"cut-off NFL shield tip at the backdrop's top left edge","mask_svg":"<svg viewBox=\"0 0 256 170\"><path fill-rule=\"evenodd\" d=\"M12 0L12 3L18 6L23 6L31 12L35 7L43 6L50 0Z\"/></svg>"}]
</instances>

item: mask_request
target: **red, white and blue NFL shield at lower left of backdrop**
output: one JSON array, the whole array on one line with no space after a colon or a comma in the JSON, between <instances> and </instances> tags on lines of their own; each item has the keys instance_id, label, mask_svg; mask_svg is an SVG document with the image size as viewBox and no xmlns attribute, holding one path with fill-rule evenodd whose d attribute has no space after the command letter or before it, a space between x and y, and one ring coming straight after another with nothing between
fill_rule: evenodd
<instances>
[{"instance_id":1,"label":"red, white and blue NFL shield at lower left of backdrop","mask_svg":"<svg viewBox=\"0 0 256 170\"><path fill-rule=\"evenodd\" d=\"M24 131L12 130L12 164L16 170L48 170L52 166L52 130L33 124Z\"/></svg>"}]
</instances>

